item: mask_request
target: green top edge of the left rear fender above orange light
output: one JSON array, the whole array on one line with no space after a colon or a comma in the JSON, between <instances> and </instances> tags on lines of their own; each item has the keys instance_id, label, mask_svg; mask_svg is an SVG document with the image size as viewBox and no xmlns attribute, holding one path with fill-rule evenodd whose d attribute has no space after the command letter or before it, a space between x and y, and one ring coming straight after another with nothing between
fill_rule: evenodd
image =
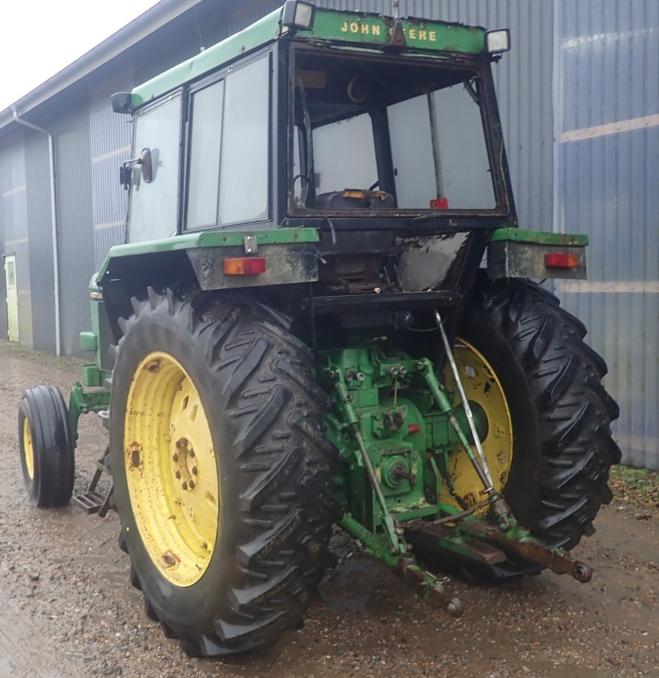
<instances>
[{"instance_id":1,"label":"green top edge of the left rear fender above orange light","mask_svg":"<svg viewBox=\"0 0 659 678\"><path fill-rule=\"evenodd\" d=\"M317 243L320 239L316 228L271 228L264 231L200 231L183 233L162 240L149 240L144 243L126 243L126 245L111 247L100 271L94 276L94 280L100 281L107 273L111 261L119 257L153 254L154 252L176 252L198 247L236 247L244 245L246 235L254 236L257 246Z\"/></svg>"}]
</instances>

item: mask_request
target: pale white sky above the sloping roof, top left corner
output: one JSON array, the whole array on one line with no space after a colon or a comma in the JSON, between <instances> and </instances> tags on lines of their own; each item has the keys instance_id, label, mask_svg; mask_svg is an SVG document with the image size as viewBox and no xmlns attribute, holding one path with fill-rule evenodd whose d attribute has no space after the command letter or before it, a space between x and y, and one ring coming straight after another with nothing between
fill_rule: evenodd
<instances>
[{"instance_id":1,"label":"pale white sky above the sloping roof, top left corner","mask_svg":"<svg viewBox=\"0 0 659 678\"><path fill-rule=\"evenodd\" d=\"M0 0L0 111L155 4L157 0Z\"/></svg>"}]
</instances>

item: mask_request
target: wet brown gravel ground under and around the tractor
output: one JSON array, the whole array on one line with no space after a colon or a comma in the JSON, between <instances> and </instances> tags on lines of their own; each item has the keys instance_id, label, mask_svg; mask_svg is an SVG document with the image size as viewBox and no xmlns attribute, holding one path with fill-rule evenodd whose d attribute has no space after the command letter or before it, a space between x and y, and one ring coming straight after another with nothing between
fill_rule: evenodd
<instances>
[{"instance_id":1,"label":"wet brown gravel ground under and around the tractor","mask_svg":"<svg viewBox=\"0 0 659 678\"><path fill-rule=\"evenodd\" d=\"M590 584L544 572L519 584L453 582L466 613L432 610L380 565L337 538L341 564L327 574L300 631L269 650L195 660L143 612L117 547L117 517L75 506L35 509L24 491L16 409L23 388L68 385L79 361L0 342L0 677L267 677L336 675L659 675L659 512L620 498L575 555ZM81 420L76 489L105 447L94 416Z\"/></svg>"}]
</instances>

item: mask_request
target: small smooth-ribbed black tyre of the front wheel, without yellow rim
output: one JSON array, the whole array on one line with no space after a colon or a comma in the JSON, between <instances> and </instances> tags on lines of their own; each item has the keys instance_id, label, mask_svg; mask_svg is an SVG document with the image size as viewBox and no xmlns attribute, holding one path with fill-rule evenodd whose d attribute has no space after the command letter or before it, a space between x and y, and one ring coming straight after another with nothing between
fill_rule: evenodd
<instances>
[{"instance_id":1,"label":"small smooth-ribbed black tyre of the front wheel, without yellow rim","mask_svg":"<svg viewBox=\"0 0 659 678\"><path fill-rule=\"evenodd\" d=\"M32 477L25 461L24 420L32 438ZM25 487L33 504L68 504L73 495L75 454L67 405L59 388L39 384L23 391L18 409L18 446Z\"/></svg>"}]
</instances>

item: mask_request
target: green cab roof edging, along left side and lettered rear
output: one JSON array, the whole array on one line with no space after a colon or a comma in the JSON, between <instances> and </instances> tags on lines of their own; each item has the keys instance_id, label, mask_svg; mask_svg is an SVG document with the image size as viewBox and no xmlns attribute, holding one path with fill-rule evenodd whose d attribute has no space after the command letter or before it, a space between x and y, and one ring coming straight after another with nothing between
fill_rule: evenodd
<instances>
[{"instance_id":1,"label":"green cab roof edging, along left side and lettered rear","mask_svg":"<svg viewBox=\"0 0 659 678\"><path fill-rule=\"evenodd\" d=\"M393 25L392 19L377 14L337 12L317 7L314 25L309 31L301 31L282 28L281 16L282 9L276 9L243 31L138 85L132 90L132 107L138 108L280 38L382 47L390 41L390 26ZM401 23L407 42L406 50L480 54L485 49L485 29L479 26L409 18L402 19Z\"/></svg>"}]
</instances>

